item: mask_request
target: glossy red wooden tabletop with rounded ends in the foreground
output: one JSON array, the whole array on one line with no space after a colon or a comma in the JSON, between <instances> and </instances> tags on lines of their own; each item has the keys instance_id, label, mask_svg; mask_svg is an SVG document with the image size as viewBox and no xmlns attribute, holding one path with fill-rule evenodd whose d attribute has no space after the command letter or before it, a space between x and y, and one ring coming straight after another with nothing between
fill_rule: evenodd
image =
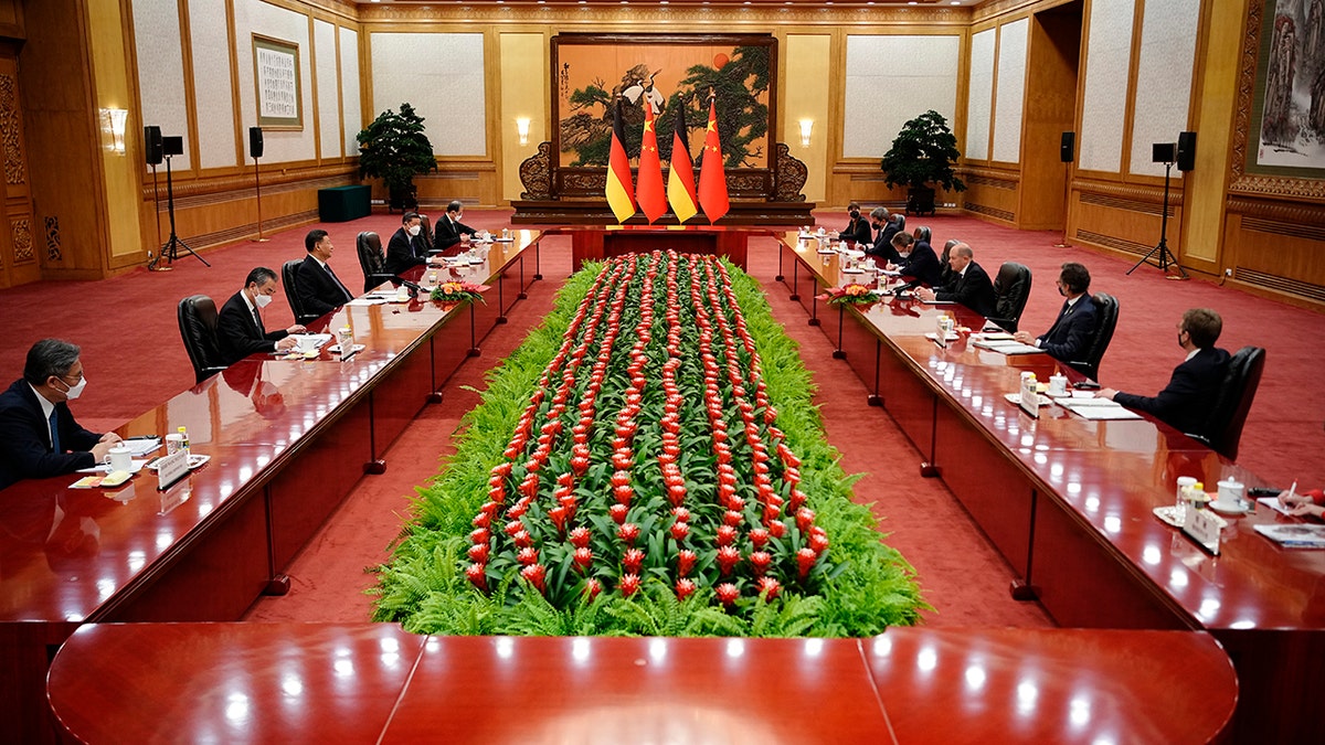
<instances>
[{"instance_id":1,"label":"glossy red wooden tabletop with rounded ends in the foreground","mask_svg":"<svg viewBox=\"0 0 1325 745\"><path fill-rule=\"evenodd\" d=\"M97 624L50 668L83 742L1207 742L1206 634L413 636L387 624Z\"/></svg>"}]
</instances>

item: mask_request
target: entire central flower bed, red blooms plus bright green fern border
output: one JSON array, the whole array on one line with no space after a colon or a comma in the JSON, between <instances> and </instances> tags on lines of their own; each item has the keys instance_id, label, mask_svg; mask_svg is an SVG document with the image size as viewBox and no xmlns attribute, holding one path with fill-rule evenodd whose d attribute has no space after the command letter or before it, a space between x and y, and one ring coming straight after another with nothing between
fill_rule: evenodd
<instances>
[{"instance_id":1,"label":"entire central flower bed, red blooms plus bright green fern border","mask_svg":"<svg viewBox=\"0 0 1325 745\"><path fill-rule=\"evenodd\" d=\"M869 636L912 570L823 439L758 285L712 256L590 264L502 362L379 567L415 632Z\"/></svg>"}]
</instances>

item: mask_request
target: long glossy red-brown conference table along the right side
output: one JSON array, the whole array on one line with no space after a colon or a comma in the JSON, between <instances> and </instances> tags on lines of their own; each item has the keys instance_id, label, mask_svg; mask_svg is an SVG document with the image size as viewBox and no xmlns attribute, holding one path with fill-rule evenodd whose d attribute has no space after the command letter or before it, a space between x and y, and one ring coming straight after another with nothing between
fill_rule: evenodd
<instances>
[{"instance_id":1,"label":"long glossy red-brown conference table along the right side","mask_svg":"<svg viewBox=\"0 0 1325 745\"><path fill-rule=\"evenodd\" d=\"M1047 354L925 335L945 314L979 331L984 318L959 305L829 306L818 297L851 276L816 249L784 235L779 281L865 383L868 403L908 435L921 472L943 480L1007 559L1014 597L1037 599L1064 627L1207 631L1238 669L1236 741L1325 742L1325 553L1256 533L1296 521L1263 505L1227 518L1219 555L1153 513L1174 502L1179 476L1208 490L1264 480L1149 416L1086 420L1052 404L1031 418L1004 398L1022 371L1081 375Z\"/></svg>"}]
</instances>

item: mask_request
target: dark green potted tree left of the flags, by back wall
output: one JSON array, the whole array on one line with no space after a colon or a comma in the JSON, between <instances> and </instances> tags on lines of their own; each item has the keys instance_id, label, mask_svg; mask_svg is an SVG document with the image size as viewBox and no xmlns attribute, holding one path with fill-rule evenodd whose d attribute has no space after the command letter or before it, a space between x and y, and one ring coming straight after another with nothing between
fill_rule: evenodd
<instances>
[{"instance_id":1,"label":"dark green potted tree left of the flags, by back wall","mask_svg":"<svg viewBox=\"0 0 1325 745\"><path fill-rule=\"evenodd\" d=\"M355 139L359 141L359 176L382 179L390 196L388 209L416 209L413 178L437 170L423 117L413 106L401 103L399 114L391 109L378 114Z\"/></svg>"}]
</instances>

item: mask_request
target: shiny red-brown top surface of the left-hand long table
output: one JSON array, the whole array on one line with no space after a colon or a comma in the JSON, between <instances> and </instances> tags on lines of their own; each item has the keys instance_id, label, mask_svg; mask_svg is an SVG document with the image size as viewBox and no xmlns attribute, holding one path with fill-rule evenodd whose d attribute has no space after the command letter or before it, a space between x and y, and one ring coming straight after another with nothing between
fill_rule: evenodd
<instances>
[{"instance_id":1,"label":"shiny red-brown top surface of the left-hand long table","mask_svg":"<svg viewBox=\"0 0 1325 745\"><path fill-rule=\"evenodd\" d=\"M514 231L510 243L476 251L482 261L436 273L443 281L494 281L539 236ZM364 349L348 359L327 351L330 345L313 359L253 355L134 418L117 430L122 436L163 436L183 426L192 452L209 457L164 492L147 469L117 489L70 489L81 476L70 475L0 490L0 623L101 618L109 599L148 579L162 557L188 550L209 518L261 488L310 435L334 426L429 331L462 313L465 306L427 298L350 304L314 325L350 326Z\"/></svg>"}]
</instances>

